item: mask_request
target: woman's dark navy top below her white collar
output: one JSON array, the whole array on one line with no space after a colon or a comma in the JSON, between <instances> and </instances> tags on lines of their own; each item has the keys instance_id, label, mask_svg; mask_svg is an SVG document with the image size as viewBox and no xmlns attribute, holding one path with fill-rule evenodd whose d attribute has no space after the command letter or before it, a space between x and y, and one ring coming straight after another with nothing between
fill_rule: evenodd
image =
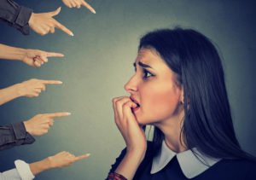
<instances>
[{"instance_id":1,"label":"woman's dark navy top below her white collar","mask_svg":"<svg viewBox=\"0 0 256 180\"><path fill-rule=\"evenodd\" d=\"M125 149L109 172L113 172L118 167L119 163L125 157ZM162 170L151 174L151 166L154 159L152 144L148 143L148 149L145 158L139 165L134 180L188 180L178 163L177 157L174 157ZM256 163L249 160L219 160L212 165L207 171L203 171L192 180L255 180L256 179Z\"/></svg>"}]
</instances>

